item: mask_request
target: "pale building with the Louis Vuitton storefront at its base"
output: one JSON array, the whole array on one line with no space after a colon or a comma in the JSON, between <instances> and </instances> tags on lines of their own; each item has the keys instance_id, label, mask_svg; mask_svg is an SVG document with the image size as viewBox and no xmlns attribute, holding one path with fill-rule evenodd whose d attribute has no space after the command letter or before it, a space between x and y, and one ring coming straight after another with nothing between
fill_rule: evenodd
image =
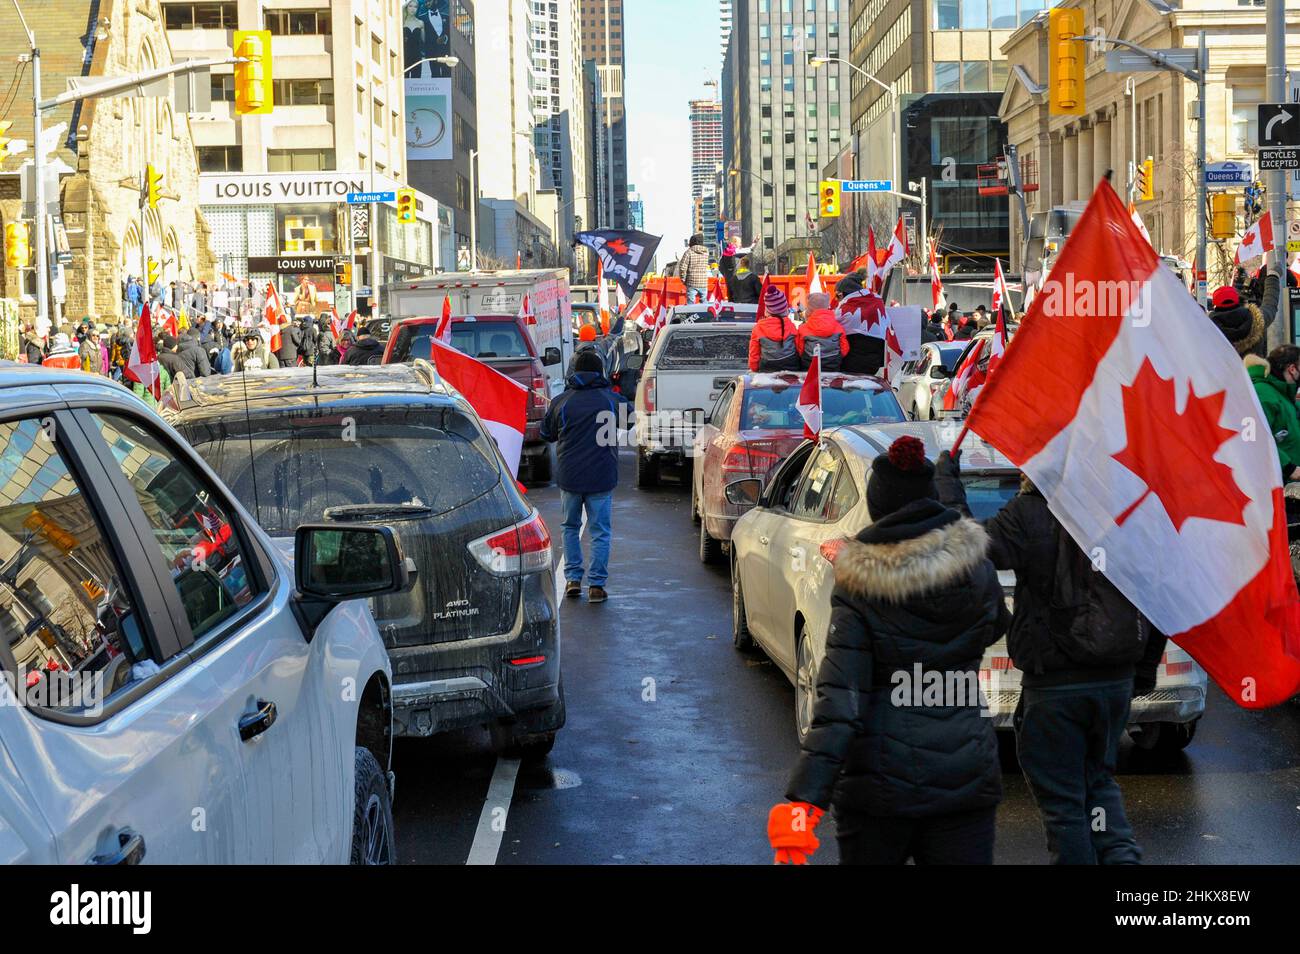
<instances>
[{"instance_id":1,"label":"pale building with the Louis Vuitton storefront at its base","mask_svg":"<svg viewBox=\"0 0 1300 954\"><path fill-rule=\"evenodd\" d=\"M177 60L229 57L234 30L270 32L273 112L235 114L234 68L218 66L211 112L188 122L218 270L282 292L306 274L324 300L342 291L338 304L351 307L350 291L333 285L335 261L354 252L346 195L407 182L426 194L420 221L399 226L393 205L376 205L372 251L358 260L356 285L373 289L433 270L439 204L407 162L408 27L398 5L306 0L263 9L256 0L162 0L161 14Z\"/></svg>"}]
</instances>

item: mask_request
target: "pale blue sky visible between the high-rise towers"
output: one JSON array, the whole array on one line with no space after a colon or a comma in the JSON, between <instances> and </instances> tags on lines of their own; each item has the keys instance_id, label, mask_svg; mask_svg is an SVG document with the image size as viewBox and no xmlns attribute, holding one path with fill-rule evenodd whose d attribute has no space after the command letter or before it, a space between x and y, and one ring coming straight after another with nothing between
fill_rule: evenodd
<instances>
[{"instance_id":1,"label":"pale blue sky visible between the high-rise towers","mask_svg":"<svg viewBox=\"0 0 1300 954\"><path fill-rule=\"evenodd\" d=\"M659 266L690 238L692 99L719 79L716 0L624 0L628 182L646 203L646 231L663 235Z\"/></svg>"}]
</instances>

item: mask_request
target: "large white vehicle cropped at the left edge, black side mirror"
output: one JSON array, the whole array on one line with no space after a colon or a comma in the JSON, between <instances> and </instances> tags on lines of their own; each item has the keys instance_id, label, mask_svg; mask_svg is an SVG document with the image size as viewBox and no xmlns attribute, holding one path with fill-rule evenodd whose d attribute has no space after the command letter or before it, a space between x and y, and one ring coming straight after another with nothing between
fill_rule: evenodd
<instances>
[{"instance_id":1,"label":"large white vehicle cropped at the left edge, black side mirror","mask_svg":"<svg viewBox=\"0 0 1300 954\"><path fill-rule=\"evenodd\" d=\"M294 565L105 378L0 370L0 863L387 863L387 526Z\"/></svg>"}]
</instances>

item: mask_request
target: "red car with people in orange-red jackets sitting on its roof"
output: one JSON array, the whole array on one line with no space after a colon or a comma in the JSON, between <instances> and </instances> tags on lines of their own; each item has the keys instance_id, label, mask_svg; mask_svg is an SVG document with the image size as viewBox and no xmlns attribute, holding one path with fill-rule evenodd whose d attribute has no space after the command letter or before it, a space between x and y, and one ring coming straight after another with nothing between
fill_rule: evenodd
<instances>
[{"instance_id":1,"label":"red car with people in orange-red jackets sitting on its roof","mask_svg":"<svg viewBox=\"0 0 1300 954\"><path fill-rule=\"evenodd\" d=\"M727 486L746 477L766 480L802 443L803 417L796 407L802 386L803 374L794 372L741 374L722 390L697 432L690 515L699 524L702 563L722 559L732 526L753 506L729 502ZM822 426L906 420L898 399L880 378L822 374Z\"/></svg>"}]
</instances>

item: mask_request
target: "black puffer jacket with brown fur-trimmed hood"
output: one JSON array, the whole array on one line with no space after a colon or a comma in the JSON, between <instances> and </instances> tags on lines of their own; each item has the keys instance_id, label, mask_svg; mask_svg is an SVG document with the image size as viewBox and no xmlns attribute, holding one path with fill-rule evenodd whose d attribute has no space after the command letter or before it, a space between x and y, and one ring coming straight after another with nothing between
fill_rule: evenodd
<instances>
[{"instance_id":1,"label":"black puffer jacket with brown fur-trimmed hood","mask_svg":"<svg viewBox=\"0 0 1300 954\"><path fill-rule=\"evenodd\" d=\"M987 548L979 524L937 500L910 503L844 547L790 801L900 818L998 802L997 740L978 678L1010 615ZM916 665L963 698L923 699Z\"/></svg>"}]
</instances>

